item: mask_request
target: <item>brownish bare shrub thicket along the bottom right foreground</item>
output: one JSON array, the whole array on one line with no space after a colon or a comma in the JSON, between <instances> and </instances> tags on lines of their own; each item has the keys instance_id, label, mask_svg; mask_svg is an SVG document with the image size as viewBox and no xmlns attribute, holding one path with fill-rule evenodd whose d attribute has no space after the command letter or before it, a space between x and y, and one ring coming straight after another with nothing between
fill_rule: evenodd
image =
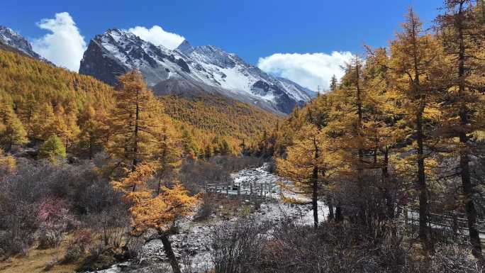
<instances>
[{"instance_id":1,"label":"brownish bare shrub thicket along the bottom right foreground","mask_svg":"<svg viewBox=\"0 0 485 273\"><path fill-rule=\"evenodd\" d=\"M355 223L323 223L318 229L284 221L258 228L251 219L223 225L212 235L216 273L478 273L467 245L438 245L429 259L418 259L401 231L374 238ZM409 240L409 239L406 239Z\"/></svg>"}]
</instances>

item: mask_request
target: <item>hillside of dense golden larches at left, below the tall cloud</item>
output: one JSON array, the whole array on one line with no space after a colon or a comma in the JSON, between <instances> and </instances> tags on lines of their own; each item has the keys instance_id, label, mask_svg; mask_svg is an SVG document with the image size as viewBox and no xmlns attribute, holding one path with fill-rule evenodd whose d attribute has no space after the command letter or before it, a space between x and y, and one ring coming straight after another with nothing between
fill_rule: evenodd
<instances>
[{"instance_id":1,"label":"hillside of dense golden larches at left, below the tall cloud","mask_svg":"<svg viewBox=\"0 0 485 273\"><path fill-rule=\"evenodd\" d=\"M0 50L1 145L5 150L62 138L77 148L89 114L106 116L113 90L92 77L68 72L16 52ZM94 117L93 117L94 118Z\"/></svg>"}]
</instances>

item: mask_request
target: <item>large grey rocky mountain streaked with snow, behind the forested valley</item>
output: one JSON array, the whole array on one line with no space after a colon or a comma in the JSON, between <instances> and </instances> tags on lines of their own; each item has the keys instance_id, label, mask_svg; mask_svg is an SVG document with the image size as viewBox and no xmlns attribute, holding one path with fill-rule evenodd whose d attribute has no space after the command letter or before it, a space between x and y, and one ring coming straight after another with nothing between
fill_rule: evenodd
<instances>
[{"instance_id":1,"label":"large grey rocky mountain streaked with snow, behind the forested valley","mask_svg":"<svg viewBox=\"0 0 485 273\"><path fill-rule=\"evenodd\" d=\"M184 40L169 50L118 29L91 40L79 73L116 84L116 77L131 69L140 70L157 94L222 94L282 113L290 113L315 94L212 45L194 48Z\"/></svg>"}]
</instances>

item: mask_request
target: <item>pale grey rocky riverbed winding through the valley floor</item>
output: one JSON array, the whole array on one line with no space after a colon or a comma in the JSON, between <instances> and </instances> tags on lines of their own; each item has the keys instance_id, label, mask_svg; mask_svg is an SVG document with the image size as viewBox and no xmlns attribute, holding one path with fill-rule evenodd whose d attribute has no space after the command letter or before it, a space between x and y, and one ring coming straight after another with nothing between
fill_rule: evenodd
<instances>
[{"instance_id":1,"label":"pale grey rocky riverbed winding through the valley floor","mask_svg":"<svg viewBox=\"0 0 485 273\"><path fill-rule=\"evenodd\" d=\"M297 223L313 224L313 212L311 206L290 206L288 204L282 204L277 198L280 190L276 182L281 181L280 177L267 172L267 166L262 166L255 169L243 169L238 173L232 175L234 184L242 186L248 186L252 184L265 185L264 191L272 191L272 199L264 199L259 208L250 213L250 216L257 221L269 221L272 223L279 223L285 218L292 218ZM245 196L242 196L243 199ZM221 194L220 198L226 198ZM248 202L249 200L243 200ZM328 208L319 203L319 218L323 221L323 218L328 215ZM174 252L181 262L182 266L191 267L186 268L185 272L206 272L211 268L211 232L217 225L223 225L225 223L231 223L238 221L238 217L233 218L221 218L218 215L213 214L204 222L196 222L193 217L189 217L180 221L179 233L172 235L172 247ZM143 251L140 254L140 262L123 262L121 264L115 264L113 267L105 270L97 271L99 273L120 273L120 272L170 272L163 245L160 240L151 240L149 243L143 246ZM185 265L184 265L185 264Z\"/></svg>"}]
</instances>

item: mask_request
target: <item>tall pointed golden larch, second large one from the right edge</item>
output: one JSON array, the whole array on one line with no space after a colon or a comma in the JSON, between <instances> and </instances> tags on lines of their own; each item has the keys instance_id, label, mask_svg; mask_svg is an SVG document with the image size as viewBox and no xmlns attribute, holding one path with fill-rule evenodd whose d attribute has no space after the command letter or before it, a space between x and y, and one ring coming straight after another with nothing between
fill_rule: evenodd
<instances>
[{"instance_id":1,"label":"tall pointed golden larch, second large one from the right edge","mask_svg":"<svg viewBox=\"0 0 485 273\"><path fill-rule=\"evenodd\" d=\"M403 117L406 120L410 136L416 140L411 148L415 150L417 174L416 189L419 194L419 238L423 245L430 248L430 230L428 229L428 189L425 174L425 140L431 130L430 125L437 119L436 86L440 79L440 44L431 35L425 33L423 24L416 13L409 9L403 30L396 34L391 42L391 60L393 88L401 101ZM415 156L416 155L416 156Z\"/></svg>"}]
</instances>

